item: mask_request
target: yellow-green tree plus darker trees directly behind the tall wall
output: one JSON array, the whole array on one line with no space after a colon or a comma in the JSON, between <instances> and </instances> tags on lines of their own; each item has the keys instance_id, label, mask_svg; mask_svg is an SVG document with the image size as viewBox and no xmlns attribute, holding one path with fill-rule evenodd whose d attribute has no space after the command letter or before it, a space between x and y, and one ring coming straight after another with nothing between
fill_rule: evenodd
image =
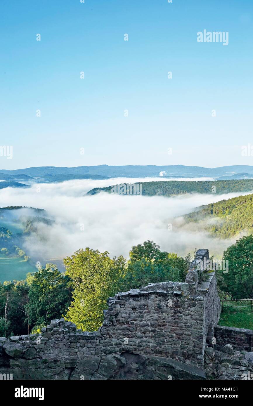
<instances>
[{"instance_id":1,"label":"yellow-green tree plus darker trees directly behind the tall wall","mask_svg":"<svg viewBox=\"0 0 253 406\"><path fill-rule=\"evenodd\" d=\"M74 287L66 319L82 330L97 330L108 297L152 282L184 280L189 261L189 255L184 259L162 252L150 240L132 247L127 264L122 256L111 259L107 251L78 250L64 260Z\"/></svg>"}]
</instances>

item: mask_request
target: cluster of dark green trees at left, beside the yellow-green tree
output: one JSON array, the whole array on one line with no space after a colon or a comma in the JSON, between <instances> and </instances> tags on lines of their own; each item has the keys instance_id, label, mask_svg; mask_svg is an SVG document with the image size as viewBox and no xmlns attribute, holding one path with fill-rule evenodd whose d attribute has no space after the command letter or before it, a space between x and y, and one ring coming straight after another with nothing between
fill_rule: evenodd
<instances>
[{"instance_id":1,"label":"cluster of dark green trees at left, beside the yellow-green tree","mask_svg":"<svg viewBox=\"0 0 253 406\"><path fill-rule=\"evenodd\" d=\"M31 326L47 324L58 318L71 302L69 278L56 266L27 274L26 281L0 283L0 317L4 317L5 333L30 333Z\"/></svg>"}]
</instances>

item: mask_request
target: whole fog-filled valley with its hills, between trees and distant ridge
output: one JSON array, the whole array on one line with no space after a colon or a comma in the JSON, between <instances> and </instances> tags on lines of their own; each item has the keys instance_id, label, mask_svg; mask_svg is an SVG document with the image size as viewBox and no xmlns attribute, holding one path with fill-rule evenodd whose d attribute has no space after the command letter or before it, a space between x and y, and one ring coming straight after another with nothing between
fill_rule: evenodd
<instances>
[{"instance_id":1,"label":"whole fog-filled valley with its hills, between trees and distant ridge","mask_svg":"<svg viewBox=\"0 0 253 406\"><path fill-rule=\"evenodd\" d=\"M98 187L108 185L110 179L97 179L97 176L86 179L89 175L83 175L82 179L62 180L55 188L55 176L68 178L68 175L52 175L51 182L33 183L30 188L22 189L22 194L16 195L15 189L9 189L13 190L11 194L4 191L0 194L6 205L6 209L0 209L0 227L12 233L11 238L0 239L0 282L23 279L26 273L35 272L38 264L54 263L64 272L63 258L80 246L98 247L108 250L110 255L126 255L125 246L151 238L164 249L186 255L193 253L193 245L205 241L214 255L221 257L236 235L251 232L251 179L129 178L131 182L141 181L142 196L128 199L113 196L111 186ZM120 182L118 185L125 181L114 180ZM36 193L38 185L41 193ZM97 187L92 188L93 185ZM106 197L99 192L109 193ZM167 200L168 197L171 199ZM62 201L65 203L61 204ZM11 206L19 202L24 206ZM38 208L28 208L31 204ZM117 222L124 212L128 213L128 220L123 221L119 234Z\"/></svg>"}]
</instances>

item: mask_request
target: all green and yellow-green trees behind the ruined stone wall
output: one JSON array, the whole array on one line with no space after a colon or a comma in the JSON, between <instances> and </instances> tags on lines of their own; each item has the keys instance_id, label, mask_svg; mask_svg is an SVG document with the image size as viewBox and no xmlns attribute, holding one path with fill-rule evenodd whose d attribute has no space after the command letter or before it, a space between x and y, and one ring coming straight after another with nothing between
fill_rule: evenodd
<instances>
[{"instance_id":1,"label":"all green and yellow-green trees behind the ruined stone wall","mask_svg":"<svg viewBox=\"0 0 253 406\"><path fill-rule=\"evenodd\" d=\"M229 272L216 272L220 297L252 298L253 235L227 248L223 259ZM151 240L133 246L128 261L110 258L107 251L80 249L64 259L65 274L49 263L25 281L0 284L0 335L27 334L31 327L38 332L61 315L82 330L97 330L109 297L148 283L184 281L190 261L190 254L182 258L161 251Z\"/></svg>"}]
</instances>

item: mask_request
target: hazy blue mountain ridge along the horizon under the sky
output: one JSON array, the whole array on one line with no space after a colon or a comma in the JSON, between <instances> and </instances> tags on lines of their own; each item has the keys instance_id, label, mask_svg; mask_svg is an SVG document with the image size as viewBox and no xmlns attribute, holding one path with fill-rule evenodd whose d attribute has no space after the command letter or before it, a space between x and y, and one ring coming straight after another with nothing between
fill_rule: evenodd
<instances>
[{"instance_id":1,"label":"hazy blue mountain ridge along the horizon under the sky","mask_svg":"<svg viewBox=\"0 0 253 406\"><path fill-rule=\"evenodd\" d=\"M204 168L202 166L185 165L123 165L123 166L37 166L33 168L14 169L12 171L2 169L1 173L9 175L28 175L31 177L43 177L47 175L101 175L105 177L158 177L160 173L164 177L221 177L233 176L240 173L253 175L253 166L231 165L218 168Z\"/></svg>"}]
</instances>

